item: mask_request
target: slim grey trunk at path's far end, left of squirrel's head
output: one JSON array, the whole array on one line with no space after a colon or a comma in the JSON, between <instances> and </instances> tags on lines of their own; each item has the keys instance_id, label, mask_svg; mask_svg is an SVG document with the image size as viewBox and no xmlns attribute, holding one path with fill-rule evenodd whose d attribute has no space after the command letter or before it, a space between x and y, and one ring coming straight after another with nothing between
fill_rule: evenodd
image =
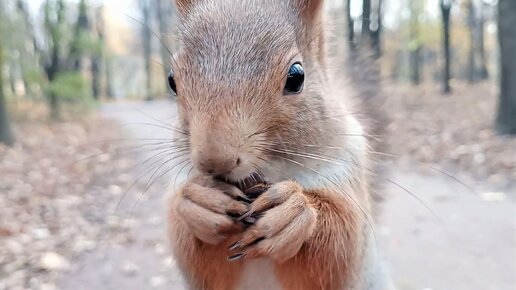
<instances>
[{"instance_id":1,"label":"slim grey trunk at path's far end, left of squirrel's head","mask_svg":"<svg viewBox=\"0 0 516 290\"><path fill-rule=\"evenodd\" d=\"M150 28L150 3L149 0L140 0L140 9L143 15L142 41L143 41L143 57L145 61L146 85L145 99L153 100L152 83L151 83L151 28Z\"/></svg>"}]
</instances>

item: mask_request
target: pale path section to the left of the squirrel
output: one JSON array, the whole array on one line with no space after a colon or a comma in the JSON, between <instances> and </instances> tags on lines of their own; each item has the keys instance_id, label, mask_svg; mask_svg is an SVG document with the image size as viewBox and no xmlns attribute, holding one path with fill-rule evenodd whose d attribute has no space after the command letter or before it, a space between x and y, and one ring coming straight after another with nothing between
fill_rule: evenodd
<instances>
[{"instance_id":1,"label":"pale path section to the left of the squirrel","mask_svg":"<svg viewBox=\"0 0 516 290\"><path fill-rule=\"evenodd\" d=\"M102 110L105 117L123 126L128 139L141 139L130 142L133 145L148 143L147 139L167 138L170 132L147 124L159 126L161 124L156 120L169 120L174 112L173 105L168 102L114 104L106 105ZM144 162L150 154L142 151L137 159ZM141 171L141 168L135 168L134 178L141 176ZM141 178L143 184L148 177ZM121 245L106 242L80 258L63 277L62 289L183 289L179 273L168 255L164 227L166 179L166 176L161 178L162 182L154 184L139 201L141 188L126 194L119 215L132 217L128 241Z\"/></svg>"}]
</instances>

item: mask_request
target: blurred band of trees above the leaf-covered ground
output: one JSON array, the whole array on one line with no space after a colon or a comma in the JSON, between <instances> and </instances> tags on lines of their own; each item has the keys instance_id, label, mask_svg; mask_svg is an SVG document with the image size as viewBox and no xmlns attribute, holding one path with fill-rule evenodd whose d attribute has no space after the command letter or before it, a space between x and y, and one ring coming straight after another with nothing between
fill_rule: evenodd
<instances>
[{"instance_id":1,"label":"blurred band of trees above the leaf-covered ground","mask_svg":"<svg viewBox=\"0 0 516 290\"><path fill-rule=\"evenodd\" d=\"M516 132L513 3L326 2L338 19L339 40L352 51L370 48L392 83L431 83L451 93L454 83L501 80L496 128ZM46 102L49 117L59 119L63 106L84 110L102 100L170 95L163 79L169 51L177 46L171 1L5 0L1 5L4 143L13 143L9 111L27 102Z\"/></svg>"}]
</instances>

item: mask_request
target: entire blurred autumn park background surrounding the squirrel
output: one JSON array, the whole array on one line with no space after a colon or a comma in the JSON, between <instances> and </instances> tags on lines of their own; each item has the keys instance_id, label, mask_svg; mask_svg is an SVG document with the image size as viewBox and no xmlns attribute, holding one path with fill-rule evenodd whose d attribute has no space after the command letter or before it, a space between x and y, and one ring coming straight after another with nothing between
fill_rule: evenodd
<instances>
[{"instance_id":1,"label":"entire blurred autumn park background surrounding the squirrel","mask_svg":"<svg viewBox=\"0 0 516 290\"><path fill-rule=\"evenodd\" d=\"M516 289L514 0L326 8L335 63L388 113L375 233L396 285ZM1 290L184 289L163 215L186 167L176 30L169 0L0 1Z\"/></svg>"}]
</instances>

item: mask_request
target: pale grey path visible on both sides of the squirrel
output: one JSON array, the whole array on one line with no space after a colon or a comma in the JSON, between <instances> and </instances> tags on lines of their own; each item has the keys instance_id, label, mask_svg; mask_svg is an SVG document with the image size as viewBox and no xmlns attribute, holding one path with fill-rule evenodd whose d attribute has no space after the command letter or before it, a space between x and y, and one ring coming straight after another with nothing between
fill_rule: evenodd
<instances>
[{"instance_id":1,"label":"pale grey path visible on both sides of the squirrel","mask_svg":"<svg viewBox=\"0 0 516 290\"><path fill-rule=\"evenodd\" d=\"M103 109L105 116L122 124L157 124L153 118L166 121L174 112L174 106L163 101L108 105ZM127 129L128 135L141 139L163 138L167 134L148 126ZM139 158L144 160L146 155ZM399 289L514 290L516 192L490 193L482 190L482 183L461 176L463 182L474 186L472 193L444 174L415 172L394 172L390 179L417 195L438 218L391 183L387 186L390 197L384 205L382 224L376 228L377 241ZM184 289L168 256L165 186L153 186L140 201L127 243L102 244L74 261L60 288ZM129 211L136 198L124 200L123 211Z\"/></svg>"}]
</instances>

